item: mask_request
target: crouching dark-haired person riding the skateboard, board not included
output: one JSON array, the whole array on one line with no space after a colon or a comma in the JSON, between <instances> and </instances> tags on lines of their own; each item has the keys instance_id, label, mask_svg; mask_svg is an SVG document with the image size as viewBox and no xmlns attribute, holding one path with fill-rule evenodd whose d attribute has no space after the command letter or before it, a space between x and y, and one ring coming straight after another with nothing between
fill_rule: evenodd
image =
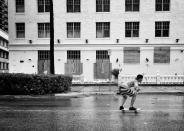
<instances>
[{"instance_id":1,"label":"crouching dark-haired person riding the skateboard, board not included","mask_svg":"<svg viewBox=\"0 0 184 131\"><path fill-rule=\"evenodd\" d=\"M136 111L137 108L135 108L133 105L136 100L136 96L138 92L140 91L140 88L138 86L138 83L141 83L143 79L143 75L137 75L135 80L127 82L127 83L122 83L119 86L119 94L122 95L122 105L119 107L120 110L124 110L124 104L127 100L127 96L132 97L131 102L130 102L130 108L129 110Z\"/></svg>"}]
</instances>

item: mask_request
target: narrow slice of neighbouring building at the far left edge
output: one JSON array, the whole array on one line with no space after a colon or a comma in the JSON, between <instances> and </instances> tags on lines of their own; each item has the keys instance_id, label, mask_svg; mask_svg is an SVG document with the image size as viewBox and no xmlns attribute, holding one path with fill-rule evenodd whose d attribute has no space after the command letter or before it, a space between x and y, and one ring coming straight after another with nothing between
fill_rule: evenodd
<instances>
[{"instance_id":1,"label":"narrow slice of neighbouring building at the far left edge","mask_svg":"<svg viewBox=\"0 0 184 131\"><path fill-rule=\"evenodd\" d=\"M0 73L9 70L8 49L8 4L0 0Z\"/></svg>"}]
</instances>

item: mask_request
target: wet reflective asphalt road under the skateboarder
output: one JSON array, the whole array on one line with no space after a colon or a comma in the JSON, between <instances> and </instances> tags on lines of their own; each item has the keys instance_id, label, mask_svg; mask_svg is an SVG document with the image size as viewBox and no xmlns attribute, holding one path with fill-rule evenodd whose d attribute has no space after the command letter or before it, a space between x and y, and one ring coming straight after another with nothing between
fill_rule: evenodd
<instances>
[{"instance_id":1,"label":"wet reflective asphalt road under the skateboarder","mask_svg":"<svg viewBox=\"0 0 184 131\"><path fill-rule=\"evenodd\" d=\"M130 98L126 102L129 107ZM184 96L137 97L138 114L118 110L121 96L0 100L0 131L183 131Z\"/></svg>"}]
</instances>

